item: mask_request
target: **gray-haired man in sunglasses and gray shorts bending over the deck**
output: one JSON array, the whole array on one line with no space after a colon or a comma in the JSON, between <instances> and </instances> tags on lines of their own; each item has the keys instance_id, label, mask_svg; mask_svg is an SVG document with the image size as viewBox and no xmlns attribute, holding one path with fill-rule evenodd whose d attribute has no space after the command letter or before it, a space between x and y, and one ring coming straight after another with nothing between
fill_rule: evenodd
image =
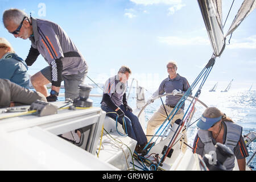
<instances>
[{"instance_id":1,"label":"gray-haired man in sunglasses and gray shorts bending over the deck","mask_svg":"<svg viewBox=\"0 0 256 182\"><path fill-rule=\"evenodd\" d=\"M84 82L87 64L75 44L56 23L28 17L18 9L3 13L3 24L15 38L30 39L31 48L25 60L31 66L41 54L49 64L31 77L36 91L48 96L46 85L52 83L47 101L56 101L61 81L64 80L65 98L74 100L79 96L78 85Z\"/></svg>"}]
</instances>

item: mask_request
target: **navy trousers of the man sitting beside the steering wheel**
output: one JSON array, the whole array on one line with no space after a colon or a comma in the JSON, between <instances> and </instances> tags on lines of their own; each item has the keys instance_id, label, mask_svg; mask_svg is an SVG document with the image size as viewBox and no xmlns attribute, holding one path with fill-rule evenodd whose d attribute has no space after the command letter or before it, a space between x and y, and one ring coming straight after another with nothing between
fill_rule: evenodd
<instances>
[{"instance_id":1,"label":"navy trousers of the man sitting beside the steering wheel","mask_svg":"<svg viewBox=\"0 0 256 182\"><path fill-rule=\"evenodd\" d=\"M119 106L120 109L122 109L123 113L125 113L125 122L126 122L126 129L127 129L127 135L136 140L137 144L144 144L147 143L146 135L144 134L144 131L141 127L141 123L139 123L139 119L136 115L131 113L131 111L125 110L125 107L123 105ZM108 112L114 112L113 109L111 109L109 106L101 106L101 109ZM107 114L109 117L113 118L114 120L117 118L117 114L110 113ZM123 125L123 120L121 118L117 118L117 121ZM124 128L124 127L123 127Z\"/></svg>"}]
</instances>

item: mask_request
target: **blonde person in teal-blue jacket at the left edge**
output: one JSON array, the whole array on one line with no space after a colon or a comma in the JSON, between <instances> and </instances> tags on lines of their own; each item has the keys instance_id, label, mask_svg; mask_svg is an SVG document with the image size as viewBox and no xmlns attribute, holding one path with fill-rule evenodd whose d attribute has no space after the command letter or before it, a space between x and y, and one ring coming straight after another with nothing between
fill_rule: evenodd
<instances>
[{"instance_id":1,"label":"blonde person in teal-blue jacket at the left edge","mask_svg":"<svg viewBox=\"0 0 256 182\"><path fill-rule=\"evenodd\" d=\"M5 38L0 38L0 78L29 88L30 78L27 73L27 64L16 55L13 47Z\"/></svg>"}]
</instances>

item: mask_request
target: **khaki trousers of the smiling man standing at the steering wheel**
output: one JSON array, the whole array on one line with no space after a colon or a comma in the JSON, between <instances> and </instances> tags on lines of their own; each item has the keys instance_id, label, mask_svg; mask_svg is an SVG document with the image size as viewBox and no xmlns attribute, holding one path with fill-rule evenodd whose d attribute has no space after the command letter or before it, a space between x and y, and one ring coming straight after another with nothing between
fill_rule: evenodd
<instances>
[{"instance_id":1,"label":"khaki trousers of the smiling man standing at the steering wheel","mask_svg":"<svg viewBox=\"0 0 256 182\"><path fill-rule=\"evenodd\" d=\"M167 111L167 114L169 115L171 113L171 111L174 109L172 107L169 107L167 105L164 105L164 107L166 108L166 111ZM161 105L158 109L158 111L156 111L152 117L150 118L150 120L148 120L147 122L147 133L146 135L154 135L155 134L155 129L158 128L159 126L162 125L162 123L165 121L165 119L167 118L167 115L166 115L166 111L164 110L164 107L163 105ZM184 116L184 111L183 109L179 109L177 111L177 113L174 115L174 118L172 118L172 121L171 121L171 125L173 126L174 125L174 122L177 120L177 119L182 119ZM170 117L171 118L171 117ZM147 136L147 141L149 142L150 139L152 137L151 136ZM185 136L184 138L184 142L187 143L187 137ZM185 152L185 150L187 150L187 146L185 146L185 144L183 144L183 147L182 147L182 151L183 153Z\"/></svg>"}]
</instances>

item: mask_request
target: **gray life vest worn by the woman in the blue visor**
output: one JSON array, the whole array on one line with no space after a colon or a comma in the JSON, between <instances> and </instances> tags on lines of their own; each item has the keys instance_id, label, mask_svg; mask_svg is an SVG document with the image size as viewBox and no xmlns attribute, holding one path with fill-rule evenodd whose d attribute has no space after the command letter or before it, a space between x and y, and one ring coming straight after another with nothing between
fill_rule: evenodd
<instances>
[{"instance_id":1,"label":"gray life vest worn by the woman in the blue visor","mask_svg":"<svg viewBox=\"0 0 256 182\"><path fill-rule=\"evenodd\" d=\"M237 146L238 141L240 140L242 134L242 127L233 123L233 122L226 122L226 141L225 146L229 147L230 150L234 152L234 147ZM197 134L201 141L204 143L204 154L210 154L211 151L216 151L216 148L213 145L212 137L210 137L210 131L208 130L201 130L197 131ZM234 168L234 160L235 156L228 158L224 162L224 166L228 171L232 171Z\"/></svg>"}]
</instances>

